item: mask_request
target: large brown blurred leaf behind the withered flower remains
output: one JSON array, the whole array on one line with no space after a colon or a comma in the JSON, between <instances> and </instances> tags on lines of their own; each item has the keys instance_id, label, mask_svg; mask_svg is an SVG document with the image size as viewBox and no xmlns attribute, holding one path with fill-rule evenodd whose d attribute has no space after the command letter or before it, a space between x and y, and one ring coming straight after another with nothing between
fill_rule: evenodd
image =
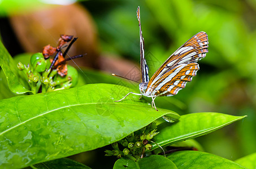
<instances>
[{"instance_id":1,"label":"large brown blurred leaf behind the withered flower remains","mask_svg":"<svg viewBox=\"0 0 256 169\"><path fill-rule=\"evenodd\" d=\"M87 54L77 59L76 63L98 67L97 30L92 16L84 7L77 4L55 6L12 16L10 22L26 52L42 51L42 47L48 44L57 46L60 34L70 34L79 39L68 55Z\"/></svg>"}]
</instances>

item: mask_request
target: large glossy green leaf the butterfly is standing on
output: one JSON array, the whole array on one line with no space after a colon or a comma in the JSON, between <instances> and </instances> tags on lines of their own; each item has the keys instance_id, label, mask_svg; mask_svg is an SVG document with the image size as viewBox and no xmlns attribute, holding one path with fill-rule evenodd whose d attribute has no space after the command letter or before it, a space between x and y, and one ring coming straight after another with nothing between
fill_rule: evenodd
<instances>
[{"instance_id":1,"label":"large glossy green leaf the butterfly is standing on","mask_svg":"<svg viewBox=\"0 0 256 169\"><path fill-rule=\"evenodd\" d=\"M155 111L114 84L87 84L46 94L0 100L0 168L34 163L93 150L146 126L171 110ZM36 155L35 155L36 154Z\"/></svg>"}]
</instances>

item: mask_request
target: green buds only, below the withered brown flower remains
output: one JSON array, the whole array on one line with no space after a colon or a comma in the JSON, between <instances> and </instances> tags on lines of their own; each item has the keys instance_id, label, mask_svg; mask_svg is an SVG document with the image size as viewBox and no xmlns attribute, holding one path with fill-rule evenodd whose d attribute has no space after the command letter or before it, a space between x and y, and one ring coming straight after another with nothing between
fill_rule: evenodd
<instances>
[{"instance_id":1,"label":"green buds only, below the withered brown flower remains","mask_svg":"<svg viewBox=\"0 0 256 169\"><path fill-rule=\"evenodd\" d=\"M45 59L42 53L33 54L28 65L20 62L17 64L18 68L27 75L33 94L37 94L38 91L44 93L76 85L78 73L75 68L67 65L68 73L61 77L57 74L57 69L49 69L50 65L50 60Z\"/></svg>"}]
</instances>

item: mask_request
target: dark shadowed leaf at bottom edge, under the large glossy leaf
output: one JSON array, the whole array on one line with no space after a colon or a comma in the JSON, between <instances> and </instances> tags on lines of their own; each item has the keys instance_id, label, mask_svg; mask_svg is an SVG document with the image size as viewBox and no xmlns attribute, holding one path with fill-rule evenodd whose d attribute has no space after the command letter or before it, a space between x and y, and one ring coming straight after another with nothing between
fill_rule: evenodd
<instances>
[{"instance_id":1,"label":"dark shadowed leaf at bottom edge, under the large glossy leaf","mask_svg":"<svg viewBox=\"0 0 256 169\"><path fill-rule=\"evenodd\" d=\"M27 168L33 168L33 169L45 169L45 168L90 169L90 167L85 166L85 164L79 163L77 161L73 161L72 159L69 159L69 158L60 158L60 159L55 159L53 161L38 163L38 164L34 164L33 166L27 167Z\"/></svg>"}]
</instances>

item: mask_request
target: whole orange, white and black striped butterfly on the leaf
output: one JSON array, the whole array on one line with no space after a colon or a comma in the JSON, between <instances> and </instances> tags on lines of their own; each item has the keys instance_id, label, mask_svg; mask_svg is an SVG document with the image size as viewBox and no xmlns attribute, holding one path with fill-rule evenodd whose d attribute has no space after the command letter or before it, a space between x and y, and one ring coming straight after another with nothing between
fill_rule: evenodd
<instances>
[{"instance_id":1,"label":"whole orange, white and black striped butterfly on the leaf","mask_svg":"<svg viewBox=\"0 0 256 169\"><path fill-rule=\"evenodd\" d=\"M199 32L178 48L149 78L149 68L145 60L144 38L142 36L140 7L137 8L137 19L140 26L140 63L141 83L139 84L140 94L129 92L129 94L151 97L152 107L157 110L154 100L158 96L173 96L186 86L187 82L199 70L198 60L206 56L208 52L208 36L205 32ZM115 74L112 74L115 75ZM119 75L115 75L120 77ZM122 101L120 99L118 101Z\"/></svg>"}]
</instances>

